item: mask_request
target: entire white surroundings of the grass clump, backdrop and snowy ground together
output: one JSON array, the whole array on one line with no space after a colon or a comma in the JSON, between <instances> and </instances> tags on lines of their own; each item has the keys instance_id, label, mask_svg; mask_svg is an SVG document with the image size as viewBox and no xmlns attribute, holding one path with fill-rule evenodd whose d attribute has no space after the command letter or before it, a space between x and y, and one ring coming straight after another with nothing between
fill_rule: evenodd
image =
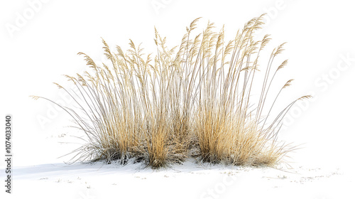
<instances>
[{"instance_id":1,"label":"entire white surroundings of the grass clump, backdrop and snowy ground together","mask_svg":"<svg viewBox=\"0 0 355 199\"><path fill-rule=\"evenodd\" d=\"M0 124L12 114L13 193L5 193L1 155L0 198L355 198L354 7L345 0L1 1ZM202 16L200 28L208 20L218 28L225 24L228 40L265 12L258 36L271 33L269 52L288 41L278 61L288 58L289 64L275 87L295 79L277 108L314 96L291 109L280 132L281 140L302 144L290 154L290 166L213 166L191 159L153 171L133 163L67 164L70 156L63 155L79 146L73 144L77 132L66 128L65 112L28 97L70 103L51 83L65 85L60 75L87 69L80 51L104 62L100 37L124 49L131 38L151 52L154 26L173 46ZM0 135L4 154L3 130Z\"/></svg>"}]
</instances>

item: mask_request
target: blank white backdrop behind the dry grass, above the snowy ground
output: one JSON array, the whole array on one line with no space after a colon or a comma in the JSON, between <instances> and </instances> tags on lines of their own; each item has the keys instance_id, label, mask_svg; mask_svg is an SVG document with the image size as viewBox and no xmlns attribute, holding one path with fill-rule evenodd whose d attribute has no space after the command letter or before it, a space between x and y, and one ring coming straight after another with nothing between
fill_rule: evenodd
<instances>
[{"instance_id":1,"label":"blank white backdrop behind the dry grass, above the snowy ground","mask_svg":"<svg viewBox=\"0 0 355 199\"><path fill-rule=\"evenodd\" d=\"M46 138L69 131L63 128L68 125L65 113L53 114L50 104L28 96L63 99L52 82L68 85L63 74L87 69L78 52L104 61L100 37L112 48L120 45L124 49L132 39L153 53L154 26L173 47L180 44L185 26L202 16L200 30L207 21L216 24L216 31L224 24L228 41L246 21L268 13L263 30L257 32L259 38L266 33L273 38L264 53L288 42L279 61L288 58L289 65L275 84L282 86L285 80L295 79L281 102L314 95L291 110L280 138L304 144L292 154L295 163L351 168L355 148L354 7L352 1L1 1L0 115L3 119L5 114L13 116L14 166L50 163L66 152L45 143ZM49 122L40 124L39 117ZM0 140L3 151L4 136ZM3 161L0 166L4 167Z\"/></svg>"}]
</instances>

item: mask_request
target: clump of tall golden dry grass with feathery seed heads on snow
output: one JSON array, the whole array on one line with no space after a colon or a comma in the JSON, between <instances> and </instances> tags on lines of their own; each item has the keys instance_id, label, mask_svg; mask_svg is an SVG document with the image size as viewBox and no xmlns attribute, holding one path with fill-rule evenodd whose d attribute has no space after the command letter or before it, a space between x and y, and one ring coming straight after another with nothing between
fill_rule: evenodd
<instances>
[{"instance_id":1,"label":"clump of tall golden dry grass with feathery seed heads on snow","mask_svg":"<svg viewBox=\"0 0 355 199\"><path fill-rule=\"evenodd\" d=\"M155 57L145 55L133 41L124 53L119 46L111 52L102 40L111 65L100 67L79 53L91 70L66 76L78 92L57 84L74 99L75 108L57 105L86 134L87 144L75 151L76 158L121 163L133 158L151 168L181 163L190 156L234 165L273 166L281 161L292 150L277 140L283 117L297 100L309 96L295 99L270 119L289 80L263 116L266 99L272 98L268 95L271 83L287 60L273 68L283 43L259 67L259 55L270 41L268 35L261 41L253 38L263 25L262 18L251 19L228 42L224 29L214 32L213 23L192 36L197 18L174 48L168 48L166 38L155 29ZM265 71L262 85L253 83L258 70ZM258 97L251 96L255 87L261 90Z\"/></svg>"}]
</instances>

